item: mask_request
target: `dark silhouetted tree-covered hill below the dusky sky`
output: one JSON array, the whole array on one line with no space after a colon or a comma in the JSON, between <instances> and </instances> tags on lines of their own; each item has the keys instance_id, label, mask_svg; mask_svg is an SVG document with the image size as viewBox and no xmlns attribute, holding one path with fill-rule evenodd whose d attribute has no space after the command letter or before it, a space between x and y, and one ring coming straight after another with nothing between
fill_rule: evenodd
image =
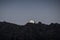
<instances>
[{"instance_id":1,"label":"dark silhouetted tree-covered hill below the dusky sky","mask_svg":"<svg viewBox=\"0 0 60 40\"><path fill-rule=\"evenodd\" d=\"M0 40L59 40L60 24L50 25L26 23L17 25L9 22L0 22Z\"/></svg>"}]
</instances>

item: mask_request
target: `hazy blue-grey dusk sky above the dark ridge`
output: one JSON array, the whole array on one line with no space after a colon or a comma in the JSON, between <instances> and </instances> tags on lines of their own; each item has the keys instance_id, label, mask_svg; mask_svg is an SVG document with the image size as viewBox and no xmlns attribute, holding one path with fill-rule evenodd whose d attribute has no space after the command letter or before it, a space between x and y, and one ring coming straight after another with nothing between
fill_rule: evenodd
<instances>
[{"instance_id":1,"label":"hazy blue-grey dusk sky above the dark ridge","mask_svg":"<svg viewBox=\"0 0 60 40\"><path fill-rule=\"evenodd\" d=\"M60 1L0 0L0 21L25 24L30 19L45 24L60 23Z\"/></svg>"}]
</instances>

